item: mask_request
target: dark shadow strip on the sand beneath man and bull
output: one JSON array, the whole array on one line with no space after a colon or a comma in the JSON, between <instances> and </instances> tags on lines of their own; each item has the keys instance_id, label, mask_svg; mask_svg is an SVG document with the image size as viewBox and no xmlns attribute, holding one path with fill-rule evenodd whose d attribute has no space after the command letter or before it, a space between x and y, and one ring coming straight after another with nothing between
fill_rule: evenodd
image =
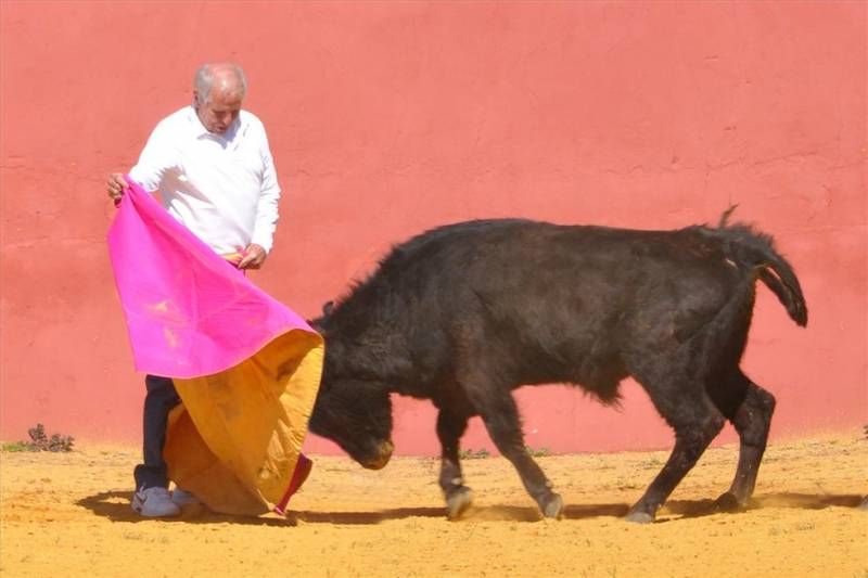
<instances>
[{"instance_id":1,"label":"dark shadow strip on the sand beneath man and bull","mask_svg":"<svg viewBox=\"0 0 868 578\"><path fill-rule=\"evenodd\" d=\"M95 515L110 518L112 522L148 522L150 518L135 513L129 506L129 492L104 491L82 498L76 504L87 508ZM859 494L813 494L813 493L766 493L756 496L746 512L764 508L792 508L799 510L824 510L830 506L856 508L863 497ZM563 519L588 519L593 517L624 517L629 510L626 503L603 504L569 504L563 510ZM286 518L268 516L232 516L210 512L205 506L184 506L180 516L164 518L161 522L188 524L229 523L256 526L295 526L297 521L307 524L344 524L372 525L381 522L408 517L445 518L445 509L441 508L393 508L369 512L326 512L294 511ZM671 500L666 502L660 523L674 522L679 518L695 518L719 514L720 510L714 500ZM542 516L535 506L527 505L486 505L472 506L462 517L463 523L473 522L537 522Z\"/></svg>"}]
</instances>

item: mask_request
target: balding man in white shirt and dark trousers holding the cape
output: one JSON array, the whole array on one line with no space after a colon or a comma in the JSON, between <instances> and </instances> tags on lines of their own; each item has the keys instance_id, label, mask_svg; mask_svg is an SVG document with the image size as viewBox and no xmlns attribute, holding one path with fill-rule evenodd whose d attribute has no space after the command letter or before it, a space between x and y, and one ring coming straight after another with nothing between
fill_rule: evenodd
<instances>
[{"instance_id":1,"label":"balding man in white shirt and dark trousers holding the cape","mask_svg":"<svg viewBox=\"0 0 868 578\"><path fill-rule=\"evenodd\" d=\"M258 269L271 249L280 187L261 121L241 110L246 80L240 66L206 64L195 75L193 102L164 118L129 176L158 194L163 206L239 269ZM115 202L127 183L108 177ZM142 464L135 471L132 509L173 516L191 497L168 491L163 460L169 410L180 399L170 378L148 375Z\"/></svg>"}]
</instances>

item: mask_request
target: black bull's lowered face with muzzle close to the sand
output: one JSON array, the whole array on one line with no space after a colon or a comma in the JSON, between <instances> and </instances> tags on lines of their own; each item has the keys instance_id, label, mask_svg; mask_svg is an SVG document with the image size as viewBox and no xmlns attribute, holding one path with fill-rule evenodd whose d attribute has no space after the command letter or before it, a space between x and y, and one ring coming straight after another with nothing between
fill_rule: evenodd
<instances>
[{"instance_id":1,"label":"black bull's lowered face with muzzle close to the sand","mask_svg":"<svg viewBox=\"0 0 868 578\"><path fill-rule=\"evenodd\" d=\"M336 442L362 466L380 470L394 449L388 391L371 382L323 375L310 431Z\"/></svg>"}]
</instances>

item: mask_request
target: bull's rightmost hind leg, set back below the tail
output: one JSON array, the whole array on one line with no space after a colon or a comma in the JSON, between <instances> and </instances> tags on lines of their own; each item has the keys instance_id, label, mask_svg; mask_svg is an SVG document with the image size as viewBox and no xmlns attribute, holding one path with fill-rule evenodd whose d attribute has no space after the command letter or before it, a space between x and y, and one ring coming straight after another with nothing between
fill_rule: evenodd
<instances>
[{"instance_id":1,"label":"bull's rightmost hind leg, set back below the tail","mask_svg":"<svg viewBox=\"0 0 868 578\"><path fill-rule=\"evenodd\" d=\"M760 462L768 441L771 414L775 412L775 396L737 372L725 388L712 398L732 422L739 434L739 465L729 491L717 499L718 508L736 510L748 504L756 486Z\"/></svg>"}]
</instances>

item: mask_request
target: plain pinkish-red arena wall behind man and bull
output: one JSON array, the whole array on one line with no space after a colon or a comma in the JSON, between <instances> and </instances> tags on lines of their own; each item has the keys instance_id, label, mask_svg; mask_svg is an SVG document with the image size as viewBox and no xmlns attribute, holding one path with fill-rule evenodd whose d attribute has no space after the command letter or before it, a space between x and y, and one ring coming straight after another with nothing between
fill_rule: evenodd
<instances>
[{"instance_id":1,"label":"plain pinkish-red arena wall behind man and bull","mask_svg":"<svg viewBox=\"0 0 868 578\"><path fill-rule=\"evenodd\" d=\"M254 279L301 313L439 223L676 228L738 203L810 308L800 330L761 290L743 365L778 397L774 434L866 423L867 16L861 2L4 1L0 438L37 421L139 438L103 182L221 59L247 70L286 190ZM528 444L668 446L638 386L625 393L617 413L522 391ZM398 451L435 451L433 420L400 400ZM490 447L478 423L465 445Z\"/></svg>"}]
</instances>

